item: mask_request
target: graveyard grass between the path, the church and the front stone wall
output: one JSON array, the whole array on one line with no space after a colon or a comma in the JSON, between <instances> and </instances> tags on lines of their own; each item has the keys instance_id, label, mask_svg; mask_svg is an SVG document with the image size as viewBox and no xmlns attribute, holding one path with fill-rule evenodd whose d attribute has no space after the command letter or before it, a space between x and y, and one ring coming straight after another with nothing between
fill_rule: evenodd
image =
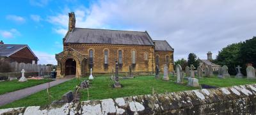
<instances>
[{"instance_id":1,"label":"graveyard grass between the path, the church and the front stone wall","mask_svg":"<svg viewBox=\"0 0 256 115\"><path fill-rule=\"evenodd\" d=\"M165 93L173 91L186 91L191 89L200 89L186 86L187 81L184 80L184 84L175 83L176 78L170 77L170 81L163 81L161 79L155 79L154 75L141 75L140 77L135 77L134 79L123 79L120 80L123 88L115 89L112 88L113 81L111 81L110 75L97 76L93 81L90 82L90 89L81 89L81 101L85 100L99 100L105 98L117 98L123 96L134 96L134 95L146 95L152 94L153 89L156 93ZM163 77L163 75L161 75ZM88 77L86 77L88 79ZM61 96L68 91L73 91L77 84L79 84L83 79L72 79L71 81L63 82L57 86L50 89L51 100L59 100ZM218 77L204 77L199 79L199 84L207 84L210 86L226 87L242 84L255 84L256 80L253 79L236 79L234 76L226 79L219 79ZM89 92L89 95L88 93ZM88 98L89 97L89 98ZM10 107L26 107L31 105L47 105L49 104L47 91L40 91L34 95L22 98L11 104L4 105L0 107L10 108Z\"/></svg>"}]
</instances>

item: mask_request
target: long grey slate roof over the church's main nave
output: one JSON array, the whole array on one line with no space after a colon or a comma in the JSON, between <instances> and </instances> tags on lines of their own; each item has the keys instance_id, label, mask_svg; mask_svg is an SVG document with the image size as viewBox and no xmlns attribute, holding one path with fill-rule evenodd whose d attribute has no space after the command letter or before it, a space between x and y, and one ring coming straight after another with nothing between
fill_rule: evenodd
<instances>
[{"instance_id":1,"label":"long grey slate roof over the church's main nave","mask_svg":"<svg viewBox=\"0 0 256 115\"><path fill-rule=\"evenodd\" d=\"M74 28L65 43L97 43L115 45L154 45L147 31Z\"/></svg>"}]
</instances>

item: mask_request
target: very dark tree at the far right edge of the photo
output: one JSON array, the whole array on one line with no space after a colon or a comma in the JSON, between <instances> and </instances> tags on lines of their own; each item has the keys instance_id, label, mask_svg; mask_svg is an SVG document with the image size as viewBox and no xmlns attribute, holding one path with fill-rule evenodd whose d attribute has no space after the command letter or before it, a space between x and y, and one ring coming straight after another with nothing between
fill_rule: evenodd
<instances>
[{"instance_id":1,"label":"very dark tree at the far right edge of the photo","mask_svg":"<svg viewBox=\"0 0 256 115\"><path fill-rule=\"evenodd\" d=\"M252 64L253 67L256 67L256 37L253 36L252 39L243 42L240 51L239 58L242 63L241 66L243 66L242 72L245 75L245 68L248 63Z\"/></svg>"}]
</instances>

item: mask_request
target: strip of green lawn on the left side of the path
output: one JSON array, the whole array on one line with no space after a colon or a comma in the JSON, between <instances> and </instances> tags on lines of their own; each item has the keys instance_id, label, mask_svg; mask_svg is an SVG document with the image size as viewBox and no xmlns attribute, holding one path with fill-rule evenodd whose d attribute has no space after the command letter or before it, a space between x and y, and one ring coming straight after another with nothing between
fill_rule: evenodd
<instances>
[{"instance_id":1,"label":"strip of green lawn on the left side of the path","mask_svg":"<svg viewBox=\"0 0 256 115\"><path fill-rule=\"evenodd\" d=\"M43 84L45 82L48 82L48 79L42 79L42 80L28 79L28 81L26 82L19 82L18 80L3 81L3 82L0 82L0 95L3 95L4 93L12 92L12 91L17 91L19 89L28 88L31 86L36 86L38 84Z\"/></svg>"}]
</instances>

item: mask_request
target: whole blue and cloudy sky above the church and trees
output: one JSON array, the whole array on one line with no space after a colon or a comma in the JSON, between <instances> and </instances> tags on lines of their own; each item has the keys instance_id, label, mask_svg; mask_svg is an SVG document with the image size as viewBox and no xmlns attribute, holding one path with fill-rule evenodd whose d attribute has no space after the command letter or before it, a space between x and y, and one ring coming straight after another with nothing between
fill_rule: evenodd
<instances>
[{"instance_id":1,"label":"whole blue and cloudy sky above the church and trees","mask_svg":"<svg viewBox=\"0 0 256 115\"><path fill-rule=\"evenodd\" d=\"M193 52L207 59L231 43L256 36L255 0L24 0L1 1L0 40L28 44L40 64L55 64L63 50L68 12L76 27L147 31L166 40L174 60Z\"/></svg>"}]
</instances>

